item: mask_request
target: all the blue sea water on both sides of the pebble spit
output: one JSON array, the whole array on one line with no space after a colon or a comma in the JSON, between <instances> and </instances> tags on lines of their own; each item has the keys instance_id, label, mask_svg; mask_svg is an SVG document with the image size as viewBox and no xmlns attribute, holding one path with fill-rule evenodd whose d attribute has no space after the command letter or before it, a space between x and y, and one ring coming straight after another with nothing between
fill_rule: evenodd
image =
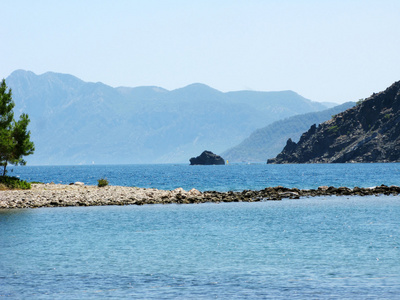
<instances>
[{"instance_id":1,"label":"all the blue sea water on both sides of the pebble spit","mask_svg":"<svg viewBox=\"0 0 400 300\"><path fill-rule=\"evenodd\" d=\"M201 191L400 185L400 164L25 166ZM400 299L400 196L0 210L0 299Z\"/></svg>"}]
</instances>

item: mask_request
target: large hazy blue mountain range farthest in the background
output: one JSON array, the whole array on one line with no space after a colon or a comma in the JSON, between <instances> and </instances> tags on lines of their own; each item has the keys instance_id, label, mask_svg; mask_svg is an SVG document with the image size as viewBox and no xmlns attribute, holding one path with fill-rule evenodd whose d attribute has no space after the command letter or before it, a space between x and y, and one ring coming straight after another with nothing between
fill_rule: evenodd
<instances>
[{"instance_id":1,"label":"large hazy blue mountain range farthest in the background","mask_svg":"<svg viewBox=\"0 0 400 300\"><path fill-rule=\"evenodd\" d=\"M292 91L223 93L204 84L168 91L113 88L68 74L18 70L6 78L25 112L34 165L188 163L220 153L280 118L325 109Z\"/></svg>"}]
</instances>

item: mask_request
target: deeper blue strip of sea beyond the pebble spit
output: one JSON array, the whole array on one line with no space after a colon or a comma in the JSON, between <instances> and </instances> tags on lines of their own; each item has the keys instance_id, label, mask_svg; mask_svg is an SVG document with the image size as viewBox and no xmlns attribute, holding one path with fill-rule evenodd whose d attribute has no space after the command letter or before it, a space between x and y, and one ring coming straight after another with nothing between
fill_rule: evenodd
<instances>
[{"instance_id":1,"label":"deeper blue strip of sea beyond the pebble spit","mask_svg":"<svg viewBox=\"0 0 400 300\"><path fill-rule=\"evenodd\" d=\"M224 166L90 165L11 167L8 175L27 181L96 185L106 177L111 185L200 191L260 190L265 187L317 188L321 185L371 187L400 186L400 163L390 164L229 164Z\"/></svg>"}]
</instances>

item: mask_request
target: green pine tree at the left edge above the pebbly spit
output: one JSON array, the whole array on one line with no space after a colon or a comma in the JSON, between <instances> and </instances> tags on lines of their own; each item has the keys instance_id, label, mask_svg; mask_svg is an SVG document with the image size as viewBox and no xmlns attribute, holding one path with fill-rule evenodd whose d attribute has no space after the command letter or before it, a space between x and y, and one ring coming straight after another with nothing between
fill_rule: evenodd
<instances>
[{"instance_id":1,"label":"green pine tree at the left edge above the pebbly spit","mask_svg":"<svg viewBox=\"0 0 400 300\"><path fill-rule=\"evenodd\" d=\"M11 89L7 91L6 81L0 84L0 166L3 166L3 177L7 173L7 165L25 165L24 156L33 154L35 145L30 140L28 131L29 117L22 114L18 121L14 120Z\"/></svg>"}]
</instances>

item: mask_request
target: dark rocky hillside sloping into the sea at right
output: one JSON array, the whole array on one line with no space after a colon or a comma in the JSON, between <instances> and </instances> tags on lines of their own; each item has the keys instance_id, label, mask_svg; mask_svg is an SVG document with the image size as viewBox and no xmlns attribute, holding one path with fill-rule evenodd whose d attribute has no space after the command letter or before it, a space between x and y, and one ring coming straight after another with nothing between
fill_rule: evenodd
<instances>
[{"instance_id":1,"label":"dark rocky hillside sloping into the sea at right","mask_svg":"<svg viewBox=\"0 0 400 300\"><path fill-rule=\"evenodd\" d=\"M400 81L291 139L268 163L400 162Z\"/></svg>"}]
</instances>

